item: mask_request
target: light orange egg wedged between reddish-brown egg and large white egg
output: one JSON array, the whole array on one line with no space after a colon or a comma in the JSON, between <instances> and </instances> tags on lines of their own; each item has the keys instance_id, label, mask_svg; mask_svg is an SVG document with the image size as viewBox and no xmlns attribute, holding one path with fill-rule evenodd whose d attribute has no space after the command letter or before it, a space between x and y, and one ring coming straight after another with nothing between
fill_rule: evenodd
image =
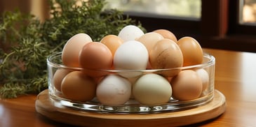
<instances>
[{"instance_id":1,"label":"light orange egg wedged between reddish-brown egg and large white egg","mask_svg":"<svg viewBox=\"0 0 256 127\"><path fill-rule=\"evenodd\" d=\"M121 38L119 38L119 36L116 36L116 35L107 35L104 38L102 38L102 40L100 40L100 43L106 45L114 56L116 49L121 44L123 44L123 40Z\"/></svg>"}]
</instances>

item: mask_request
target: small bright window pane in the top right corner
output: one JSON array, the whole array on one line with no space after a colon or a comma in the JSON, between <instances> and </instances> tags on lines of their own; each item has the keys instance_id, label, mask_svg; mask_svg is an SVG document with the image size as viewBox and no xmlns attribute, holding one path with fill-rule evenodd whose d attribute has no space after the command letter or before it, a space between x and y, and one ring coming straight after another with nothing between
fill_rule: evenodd
<instances>
[{"instance_id":1,"label":"small bright window pane in the top right corner","mask_svg":"<svg viewBox=\"0 0 256 127\"><path fill-rule=\"evenodd\" d=\"M240 23L256 23L256 0L240 0Z\"/></svg>"}]
</instances>

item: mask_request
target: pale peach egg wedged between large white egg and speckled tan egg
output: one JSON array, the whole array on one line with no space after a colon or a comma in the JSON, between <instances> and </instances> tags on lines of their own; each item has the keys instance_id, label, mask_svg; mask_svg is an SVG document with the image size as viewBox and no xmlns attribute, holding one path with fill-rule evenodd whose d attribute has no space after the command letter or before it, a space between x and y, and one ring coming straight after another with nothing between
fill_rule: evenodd
<instances>
[{"instance_id":1,"label":"pale peach egg wedged between large white egg and speckled tan egg","mask_svg":"<svg viewBox=\"0 0 256 127\"><path fill-rule=\"evenodd\" d=\"M156 43L162 39L163 39L163 36L161 36L161 34L155 33L155 32L149 32L149 33L145 33L143 36L138 38L137 41L140 41L140 43L142 43L147 48L147 52L150 52L151 49L154 48Z\"/></svg>"}]
</instances>

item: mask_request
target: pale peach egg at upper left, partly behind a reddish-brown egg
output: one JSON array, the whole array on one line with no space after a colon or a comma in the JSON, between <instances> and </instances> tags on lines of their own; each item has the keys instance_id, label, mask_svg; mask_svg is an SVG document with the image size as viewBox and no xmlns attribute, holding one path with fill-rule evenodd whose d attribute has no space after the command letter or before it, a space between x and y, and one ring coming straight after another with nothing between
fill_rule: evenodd
<instances>
[{"instance_id":1,"label":"pale peach egg at upper left, partly behind a reddish-brown egg","mask_svg":"<svg viewBox=\"0 0 256 127\"><path fill-rule=\"evenodd\" d=\"M93 40L86 33L77 33L72 36L62 49L62 63L65 66L80 67L79 52L83 45Z\"/></svg>"}]
</instances>

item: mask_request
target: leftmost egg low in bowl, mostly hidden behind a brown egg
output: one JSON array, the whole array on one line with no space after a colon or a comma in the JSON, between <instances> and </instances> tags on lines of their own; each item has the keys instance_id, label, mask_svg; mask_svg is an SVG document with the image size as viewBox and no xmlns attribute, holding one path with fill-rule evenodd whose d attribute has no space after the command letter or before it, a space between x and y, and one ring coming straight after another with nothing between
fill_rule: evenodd
<instances>
[{"instance_id":1,"label":"leftmost egg low in bowl, mostly hidden behind a brown egg","mask_svg":"<svg viewBox=\"0 0 256 127\"><path fill-rule=\"evenodd\" d=\"M67 70L67 69L58 69L55 71L54 75L53 75L53 84L55 89L57 89L58 91L61 91L61 82L63 80L63 78L70 73L71 71Z\"/></svg>"}]
</instances>

